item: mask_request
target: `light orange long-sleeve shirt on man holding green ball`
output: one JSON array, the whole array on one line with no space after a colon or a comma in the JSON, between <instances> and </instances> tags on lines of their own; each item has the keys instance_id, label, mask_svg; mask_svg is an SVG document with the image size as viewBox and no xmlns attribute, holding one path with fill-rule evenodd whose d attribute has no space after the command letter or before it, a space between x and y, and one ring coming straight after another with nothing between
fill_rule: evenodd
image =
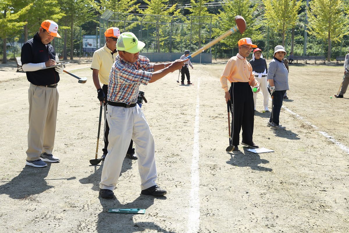
<instances>
[{"instance_id":1,"label":"light orange long-sleeve shirt on man holding green ball","mask_svg":"<svg viewBox=\"0 0 349 233\"><path fill-rule=\"evenodd\" d=\"M251 87L258 83L254 78L251 64L239 53L229 59L222 73L221 83L224 92L228 92L228 81L248 82Z\"/></svg>"}]
</instances>

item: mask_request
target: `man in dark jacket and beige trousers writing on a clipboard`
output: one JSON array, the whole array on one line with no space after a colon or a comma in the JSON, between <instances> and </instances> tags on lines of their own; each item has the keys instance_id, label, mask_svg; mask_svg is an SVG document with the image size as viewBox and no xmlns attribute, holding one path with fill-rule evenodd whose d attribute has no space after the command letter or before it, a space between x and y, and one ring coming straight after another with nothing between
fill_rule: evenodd
<instances>
[{"instance_id":1,"label":"man in dark jacket and beige trousers writing on a clipboard","mask_svg":"<svg viewBox=\"0 0 349 233\"><path fill-rule=\"evenodd\" d=\"M58 162L52 155L59 94L57 85L63 66L55 65L55 52L51 45L54 37L60 38L58 24L52 20L41 23L39 32L22 46L22 68L30 82L29 129L26 165L46 167L45 162Z\"/></svg>"}]
</instances>

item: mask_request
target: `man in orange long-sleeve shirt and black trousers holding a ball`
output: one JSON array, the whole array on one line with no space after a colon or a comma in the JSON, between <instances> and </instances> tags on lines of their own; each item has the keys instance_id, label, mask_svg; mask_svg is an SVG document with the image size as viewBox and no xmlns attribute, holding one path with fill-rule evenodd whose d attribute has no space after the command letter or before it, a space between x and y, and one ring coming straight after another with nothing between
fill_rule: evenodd
<instances>
[{"instance_id":1,"label":"man in orange long-sleeve shirt and black trousers holding a ball","mask_svg":"<svg viewBox=\"0 0 349 233\"><path fill-rule=\"evenodd\" d=\"M242 38L238 41L239 53L228 60L221 76L222 88L225 92L225 102L232 104L231 135L233 150L238 151L240 130L242 128L242 145L251 148L258 148L252 140L253 136L253 92L251 87L257 88L260 85L252 72L252 66L246 60L257 45L252 44L250 38ZM228 91L227 81L231 83Z\"/></svg>"}]
</instances>

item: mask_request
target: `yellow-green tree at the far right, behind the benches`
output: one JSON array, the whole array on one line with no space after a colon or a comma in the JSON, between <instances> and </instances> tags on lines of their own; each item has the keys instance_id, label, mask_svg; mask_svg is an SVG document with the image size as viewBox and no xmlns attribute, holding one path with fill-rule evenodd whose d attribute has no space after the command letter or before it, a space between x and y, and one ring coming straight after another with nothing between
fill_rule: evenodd
<instances>
[{"instance_id":1,"label":"yellow-green tree at the far right, behind the benches","mask_svg":"<svg viewBox=\"0 0 349 233\"><path fill-rule=\"evenodd\" d=\"M341 41L349 33L348 7L341 0L312 0L309 16L309 34L327 41L327 60L331 58L331 43ZM347 10L347 14L345 14Z\"/></svg>"}]
</instances>

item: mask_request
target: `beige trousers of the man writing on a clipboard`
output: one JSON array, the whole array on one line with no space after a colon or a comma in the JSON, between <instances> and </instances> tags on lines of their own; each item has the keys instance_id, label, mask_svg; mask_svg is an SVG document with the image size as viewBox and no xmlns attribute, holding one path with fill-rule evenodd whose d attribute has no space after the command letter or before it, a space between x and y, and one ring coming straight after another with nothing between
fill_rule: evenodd
<instances>
[{"instance_id":1,"label":"beige trousers of the man writing on a clipboard","mask_svg":"<svg viewBox=\"0 0 349 233\"><path fill-rule=\"evenodd\" d=\"M59 94L57 88L30 83L28 99L29 129L26 153L27 160L33 161L40 159L41 153L52 154Z\"/></svg>"}]
</instances>

